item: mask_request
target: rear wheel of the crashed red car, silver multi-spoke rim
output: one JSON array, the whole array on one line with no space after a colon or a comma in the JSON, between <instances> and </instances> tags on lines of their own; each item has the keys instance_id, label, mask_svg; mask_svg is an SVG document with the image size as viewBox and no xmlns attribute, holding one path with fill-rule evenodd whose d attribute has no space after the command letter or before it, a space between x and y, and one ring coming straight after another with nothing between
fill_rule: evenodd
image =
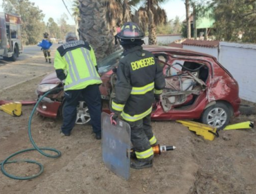
<instances>
[{"instance_id":1,"label":"rear wheel of the crashed red car, silver multi-spoke rim","mask_svg":"<svg viewBox=\"0 0 256 194\"><path fill-rule=\"evenodd\" d=\"M204 110L201 121L206 125L216 127L217 130L222 130L228 125L231 117L231 111L225 103L217 102Z\"/></svg>"}]
</instances>

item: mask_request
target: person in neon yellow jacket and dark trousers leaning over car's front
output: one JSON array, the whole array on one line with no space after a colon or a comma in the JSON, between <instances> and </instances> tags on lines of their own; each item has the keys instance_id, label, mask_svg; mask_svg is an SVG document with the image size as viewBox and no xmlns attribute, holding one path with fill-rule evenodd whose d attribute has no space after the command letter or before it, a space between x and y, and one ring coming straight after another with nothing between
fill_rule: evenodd
<instances>
[{"instance_id":1,"label":"person in neon yellow jacket and dark trousers leaning over car's front","mask_svg":"<svg viewBox=\"0 0 256 194\"><path fill-rule=\"evenodd\" d=\"M62 135L70 136L77 118L80 98L88 106L96 139L101 139L101 96L93 48L88 42L77 40L75 33L67 33L66 43L57 48L54 67L57 78L64 81L65 103Z\"/></svg>"}]
</instances>

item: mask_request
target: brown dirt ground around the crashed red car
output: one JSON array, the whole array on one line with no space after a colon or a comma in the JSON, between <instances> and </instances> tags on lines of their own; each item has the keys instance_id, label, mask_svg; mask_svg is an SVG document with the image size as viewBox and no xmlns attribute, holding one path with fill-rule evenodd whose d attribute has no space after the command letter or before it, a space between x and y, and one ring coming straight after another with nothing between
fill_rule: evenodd
<instances>
[{"instance_id":1,"label":"brown dirt ground around the crashed red car","mask_svg":"<svg viewBox=\"0 0 256 194\"><path fill-rule=\"evenodd\" d=\"M1 71L1 69L0 69ZM36 99L35 89L42 77L0 92L0 100ZM255 105L255 104L253 104ZM33 106L22 107L23 115L12 117L0 112L0 161L19 150L32 148L28 139L28 118ZM230 123L255 121L239 116ZM71 136L60 136L62 119L33 117L32 136L39 147L60 150L57 159L33 151L15 158L42 163L44 173L35 179L15 180L0 173L0 193L176 193L254 194L256 193L256 132L219 132L214 141L204 140L175 121L152 122L161 145L176 150L154 158L153 168L131 169L128 181L117 177L102 162L101 141L95 140L90 125L76 125ZM17 176L34 175L33 164L6 164Z\"/></svg>"}]
</instances>

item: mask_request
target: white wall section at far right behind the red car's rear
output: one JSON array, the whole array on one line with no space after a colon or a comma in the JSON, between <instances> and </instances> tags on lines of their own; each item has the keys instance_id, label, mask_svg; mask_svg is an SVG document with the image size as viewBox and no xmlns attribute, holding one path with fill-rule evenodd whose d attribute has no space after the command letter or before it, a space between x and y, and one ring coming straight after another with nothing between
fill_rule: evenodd
<instances>
[{"instance_id":1,"label":"white wall section at far right behind the red car's rear","mask_svg":"<svg viewBox=\"0 0 256 194\"><path fill-rule=\"evenodd\" d=\"M239 83L239 96L256 103L256 44L220 42L219 62Z\"/></svg>"}]
</instances>

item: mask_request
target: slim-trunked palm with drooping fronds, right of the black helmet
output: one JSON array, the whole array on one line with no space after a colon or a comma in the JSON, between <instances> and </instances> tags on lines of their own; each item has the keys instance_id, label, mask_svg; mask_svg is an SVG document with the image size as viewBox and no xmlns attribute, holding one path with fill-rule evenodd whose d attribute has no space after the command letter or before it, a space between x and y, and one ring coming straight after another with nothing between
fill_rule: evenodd
<instances>
[{"instance_id":1,"label":"slim-trunked palm with drooping fronds, right of the black helmet","mask_svg":"<svg viewBox=\"0 0 256 194\"><path fill-rule=\"evenodd\" d=\"M137 23L148 25L149 31L149 44L156 44L156 26L158 24L166 24L167 23L167 15L164 9L162 9L159 5L167 0L131 0L129 3L131 6L136 6L138 4L142 4L138 11L136 12ZM143 15L145 17L143 18ZM142 19L143 21L138 22L138 19ZM148 22L147 22L148 21Z\"/></svg>"}]
</instances>

